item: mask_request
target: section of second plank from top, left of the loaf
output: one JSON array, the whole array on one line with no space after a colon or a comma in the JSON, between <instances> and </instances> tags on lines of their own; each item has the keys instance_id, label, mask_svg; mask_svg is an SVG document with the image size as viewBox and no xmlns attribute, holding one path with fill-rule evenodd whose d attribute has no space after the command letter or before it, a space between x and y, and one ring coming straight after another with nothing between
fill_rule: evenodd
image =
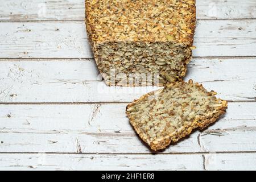
<instances>
[{"instance_id":1,"label":"section of second plank from top, left of the loaf","mask_svg":"<svg viewBox=\"0 0 256 182\"><path fill-rule=\"evenodd\" d=\"M2 22L0 41L0 57L93 57L83 22Z\"/></svg>"}]
</instances>

